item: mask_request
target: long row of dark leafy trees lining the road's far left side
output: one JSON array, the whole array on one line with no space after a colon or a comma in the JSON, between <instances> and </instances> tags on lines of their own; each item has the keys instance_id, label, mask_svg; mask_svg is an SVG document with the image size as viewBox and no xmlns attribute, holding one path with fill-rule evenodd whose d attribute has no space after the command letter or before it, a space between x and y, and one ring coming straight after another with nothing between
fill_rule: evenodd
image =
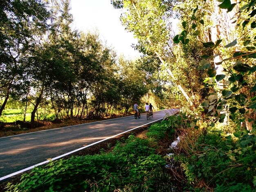
<instances>
[{"instance_id":1,"label":"long row of dark leafy trees lining the road's far left side","mask_svg":"<svg viewBox=\"0 0 256 192\"><path fill-rule=\"evenodd\" d=\"M127 113L150 89L161 95L150 70L139 69L145 60L117 60L97 32L72 29L69 0L0 6L0 116L10 98L25 103L25 115L32 104L33 128L40 108L53 110L55 119L88 118Z\"/></svg>"}]
</instances>

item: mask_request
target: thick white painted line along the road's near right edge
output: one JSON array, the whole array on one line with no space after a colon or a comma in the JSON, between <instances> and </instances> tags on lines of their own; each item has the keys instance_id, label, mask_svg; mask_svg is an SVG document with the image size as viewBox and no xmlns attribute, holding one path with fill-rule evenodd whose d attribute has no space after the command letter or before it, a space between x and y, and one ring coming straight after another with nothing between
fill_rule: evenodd
<instances>
[{"instance_id":1,"label":"thick white painted line along the road's near right edge","mask_svg":"<svg viewBox=\"0 0 256 192\"><path fill-rule=\"evenodd\" d=\"M163 119L163 118L160 118L160 119L157 119L157 120L152 121L152 122L150 122L150 123L154 123L154 122L159 121L159 120L162 120L162 119ZM105 120L105 121L108 121L108 120ZM99 121L98 121L98 122L99 122ZM139 126L139 127L142 127L142 126L148 125L148 124L150 124L150 123L146 123L146 124L141 125L141 126ZM72 154L72 153L74 153L74 152L77 152L77 151L83 150L83 149L85 149L85 148L87 148L87 147L90 147L90 146L92 146L92 145L95 145L95 144L97 144L97 143L101 143L101 142L106 141L106 140L108 140L108 139L110 139L110 138L113 138L113 137L119 136L119 135L124 134L124 133L126 133L126 132L130 132L130 131L132 131L132 130L134 130L134 129L137 129L137 128L139 128L139 127L135 127L135 128L130 129L130 130L128 130L128 131L125 131L125 132L119 133L119 134L117 134L117 135L114 135L114 136L111 136L111 137L105 138L105 139L103 139L103 140L101 140L101 141L97 141L97 142L92 143L92 144L90 144L90 145L86 145L86 146L81 147L81 148L79 148L79 149L76 149L76 150L74 150L74 151L71 151L71 152L65 153L65 154L63 154L63 155L60 155L60 156L54 157L54 158L52 158L51 160L47 160L47 161L44 161L44 162L38 163L38 164L36 164L36 165L33 165L33 166L30 166L30 167L27 167L27 168L25 168L25 169L23 169L23 170L20 170L20 171L14 172L14 173L9 174L9 175L7 175L7 176L3 176L3 177L1 177L1 178L0 178L0 181L2 181L2 180L4 180L4 179L7 179L7 178L9 178L9 177L11 177L11 176L15 176L15 175L17 175L17 174L20 174L20 173L22 173L22 172L25 172L25 171L31 170L31 169L33 169L34 167L37 167L37 166L39 166L39 165L43 165L43 164L45 164L45 163L48 163L49 161L54 161L54 160L56 160L56 159L60 159L60 158L61 158L61 157L63 157L63 156L67 156L67 155L69 155L69 154Z\"/></svg>"}]
</instances>

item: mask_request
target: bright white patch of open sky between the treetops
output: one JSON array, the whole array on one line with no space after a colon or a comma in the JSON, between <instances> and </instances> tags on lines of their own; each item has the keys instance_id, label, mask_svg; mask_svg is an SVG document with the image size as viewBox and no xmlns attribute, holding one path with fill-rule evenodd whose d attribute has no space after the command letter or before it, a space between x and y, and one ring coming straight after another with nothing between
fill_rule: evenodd
<instances>
[{"instance_id":1,"label":"bright white patch of open sky between the treetops","mask_svg":"<svg viewBox=\"0 0 256 192\"><path fill-rule=\"evenodd\" d=\"M132 33L125 31L121 25L121 11L114 9L110 0L71 0L71 13L74 19L74 27L79 31L98 30L101 39L106 41L109 47L124 54L126 58L133 59L139 56L131 45L136 44Z\"/></svg>"}]
</instances>

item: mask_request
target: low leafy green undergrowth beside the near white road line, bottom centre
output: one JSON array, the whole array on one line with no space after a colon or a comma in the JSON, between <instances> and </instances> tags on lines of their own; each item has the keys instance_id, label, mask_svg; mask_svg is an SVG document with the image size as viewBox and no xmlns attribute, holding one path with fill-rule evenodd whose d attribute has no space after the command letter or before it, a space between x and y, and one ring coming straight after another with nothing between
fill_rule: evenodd
<instances>
[{"instance_id":1,"label":"low leafy green undergrowth beside the near white road line, bottom centre","mask_svg":"<svg viewBox=\"0 0 256 192\"><path fill-rule=\"evenodd\" d=\"M50 162L9 183L7 192L26 191L171 191L166 162L152 142L130 136L110 153Z\"/></svg>"}]
</instances>

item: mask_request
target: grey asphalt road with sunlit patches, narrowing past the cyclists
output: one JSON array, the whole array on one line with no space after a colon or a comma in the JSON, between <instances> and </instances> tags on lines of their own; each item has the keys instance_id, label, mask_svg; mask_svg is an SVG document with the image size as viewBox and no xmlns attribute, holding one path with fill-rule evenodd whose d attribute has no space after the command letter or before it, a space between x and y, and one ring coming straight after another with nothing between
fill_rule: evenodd
<instances>
[{"instance_id":1,"label":"grey asphalt road with sunlit patches, narrowing past the cyclists","mask_svg":"<svg viewBox=\"0 0 256 192\"><path fill-rule=\"evenodd\" d=\"M60 159L73 152L106 141L130 129L136 129L177 112L175 109L154 112L153 118L134 116L73 125L39 132L0 138L0 182L5 179Z\"/></svg>"}]
</instances>

